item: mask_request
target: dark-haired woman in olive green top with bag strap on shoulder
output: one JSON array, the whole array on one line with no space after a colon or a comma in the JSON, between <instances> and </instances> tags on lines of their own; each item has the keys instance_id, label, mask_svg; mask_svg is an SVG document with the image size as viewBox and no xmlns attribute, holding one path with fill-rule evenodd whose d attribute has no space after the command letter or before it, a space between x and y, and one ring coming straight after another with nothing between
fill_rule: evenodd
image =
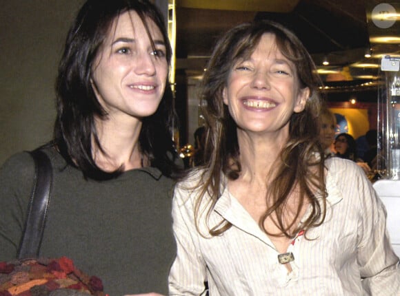
<instances>
[{"instance_id":1,"label":"dark-haired woman in olive green top with bag strap on shoulder","mask_svg":"<svg viewBox=\"0 0 400 296\"><path fill-rule=\"evenodd\" d=\"M39 257L70 257L106 293L168 293L175 253L170 43L147 0L88 0L57 77L53 171ZM0 169L0 261L17 256L34 183L26 152Z\"/></svg>"}]
</instances>

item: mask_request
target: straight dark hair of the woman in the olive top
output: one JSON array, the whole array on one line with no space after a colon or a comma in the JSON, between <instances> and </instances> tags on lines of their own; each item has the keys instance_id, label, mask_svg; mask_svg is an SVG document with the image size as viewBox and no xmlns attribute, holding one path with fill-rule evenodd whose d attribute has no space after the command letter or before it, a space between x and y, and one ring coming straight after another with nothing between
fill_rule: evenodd
<instances>
[{"instance_id":1,"label":"straight dark hair of the woman in the olive top","mask_svg":"<svg viewBox=\"0 0 400 296\"><path fill-rule=\"evenodd\" d=\"M166 59L170 65L172 50L161 12L147 0L88 0L74 20L59 63L56 82L57 119L53 144L69 165L78 167L86 178L107 180L118 176L117 171L99 168L92 157L92 141L102 150L94 125L94 118L107 118L92 89L90 78L95 59L111 25L123 12L137 12L154 43L148 28L148 19L154 21L166 43ZM142 120L139 145L141 153L168 177L179 175L176 165L177 149L173 129L177 126L174 100L167 83L163 98L152 115Z\"/></svg>"}]
</instances>

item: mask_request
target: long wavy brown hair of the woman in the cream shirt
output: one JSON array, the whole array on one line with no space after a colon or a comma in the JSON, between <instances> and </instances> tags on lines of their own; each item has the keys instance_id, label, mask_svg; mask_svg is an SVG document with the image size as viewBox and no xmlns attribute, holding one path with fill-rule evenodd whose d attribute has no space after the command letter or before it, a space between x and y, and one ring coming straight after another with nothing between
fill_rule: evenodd
<instances>
[{"instance_id":1,"label":"long wavy brown hair of the woman in the cream shirt","mask_svg":"<svg viewBox=\"0 0 400 296\"><path fill-rule=\"evenodd\" d=\"M195 219L199 226L200 204L206 195L211 200L206 214L207 220L223 191L223 178L236 180L241 173L239 161L239 144L237 140L237 125L223 103L222 92L226 87L228 76L233 65L241 59L248 58L257 47L261 36L272 33L281 53L297 68L297 80L300 89L308 87L310 98L303 112L294 113L290 118L290 135L286 146L281 150L280 158L274 165L273 180L268 183L266 200L273 204L263 214L259 221L260 227L268 233L263 222L268 217L273 218L286 237L293 237L300 227L310 229L318 226L325 219L326 184L324 180L324 158L321 145L318 142L319 127L317 120L321 107L321 98L317 93L321 79L316 67L303 46L290 30L272 21L254 21L244 23L229 30L219 39L208 63L207 71L201 86L201 100L206 119L206 165L201 182L197 184L200 195L195 207ZM321 156L321 157L319 157ZM300 202L292 222L285 224L285 206L290 193L296 189L300 193ZM308 202L312 211L308 219L301 225L295 225L303 204ZM211 235L220 235L232 226L227 221L209 226ZM199 229L199 227L198 227ZM273 233L268 233L275 235Z\"/></svg>"}]
</instances>

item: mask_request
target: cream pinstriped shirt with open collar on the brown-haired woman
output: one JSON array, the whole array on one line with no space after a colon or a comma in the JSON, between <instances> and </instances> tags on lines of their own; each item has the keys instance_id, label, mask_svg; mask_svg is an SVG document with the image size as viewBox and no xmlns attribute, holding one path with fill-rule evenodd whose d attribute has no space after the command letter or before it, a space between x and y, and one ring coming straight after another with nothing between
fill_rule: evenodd
<instances>
[{"instance_id":1,"label":"cream pinstriped shirt with open collar on the brown-haired woman","mask_svg":"<svg viewBox=\"0 0 400 296\"><path fill-rule=\"evenodd\" d=\"M232 227L217 237L199 235L193 214L198 191L190 189L199 173L179 183L172 210L178 249L170 295L201 295L205 281L210 296L400 295L399 258L386 232L386 210L370 181L349 160L332 158L326 165L326 220L308 232L314 240L299 237L290 245L290 274L266 233L227 189L209 225L225 219Z\"/></svg>"}]
</instances>

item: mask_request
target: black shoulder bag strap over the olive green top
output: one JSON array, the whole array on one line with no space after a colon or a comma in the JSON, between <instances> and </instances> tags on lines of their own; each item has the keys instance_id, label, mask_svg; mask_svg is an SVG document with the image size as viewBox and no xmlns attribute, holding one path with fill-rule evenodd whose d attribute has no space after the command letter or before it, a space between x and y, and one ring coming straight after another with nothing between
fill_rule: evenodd
<instances>
[{"instance_id":1,"label":"black shoulder bag strap over the olive green top","mask_svg":"<svg viewBox=\"0 0 400 296\"><path fill-rule=\"evenodd\" d=\"M19 244L18 258L39 257L52 189L52 165L40 149L29 152L34 159L35 176L26 224Z\"/></svg>"}]
</instances>

